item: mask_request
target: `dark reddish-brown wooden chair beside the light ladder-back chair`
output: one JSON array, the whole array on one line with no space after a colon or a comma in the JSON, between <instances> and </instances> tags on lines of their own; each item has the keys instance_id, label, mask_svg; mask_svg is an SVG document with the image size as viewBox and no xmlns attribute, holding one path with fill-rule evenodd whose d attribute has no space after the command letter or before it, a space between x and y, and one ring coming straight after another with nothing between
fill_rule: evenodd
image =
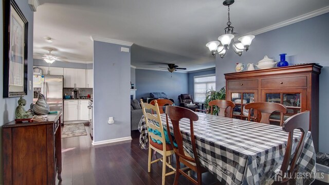
<instances>
[{"instance_id":1,"label":"dark reddish-brown wooden chair beside the light ladder-back chair","mask_svg":"<svg viewBox=\"0 0 329 185\"><path fill-rule=\"evenodd\" d=\"M176 175L175 175L174 184L178 184L178 179L180 175L184 175L187 179L189 179L194 184L202 184L202 173L207 172L207 170L200 165L196 152L193 121L198 120L197 114L195 114L192 110L188 108L178 107L178 106L167 106L166 118L167 118L167 128L169 128L168 119L171 120L175 142L177 143L177 147L176 147L173 143L173 138L170 135L169 139L176 156ZM182 118L187 118L190 120L190 136L191 136L193 157L190 156L183 148L183 139L179 129L179 121ZM188 168L180 168L180 162L186 165ZM197 174L196 180L186 173L187 171L190 170L196 172Z\"/></svg>"}]
</instances>

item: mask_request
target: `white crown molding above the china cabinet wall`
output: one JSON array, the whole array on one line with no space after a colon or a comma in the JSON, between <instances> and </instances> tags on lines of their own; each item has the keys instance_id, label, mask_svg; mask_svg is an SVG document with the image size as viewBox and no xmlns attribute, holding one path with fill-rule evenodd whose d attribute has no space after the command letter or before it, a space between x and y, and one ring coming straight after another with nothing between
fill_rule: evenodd
<instances>
[{"instance_id":1,"label":"white crown molding above the china cabinet wall","mask_svg":"<svg viewBox=\"0 0 329 185\"><path fill-rule=\"evenodd\" d=\"M315 10L315 11L312 11L312 12L309 12L309 13L305 13L305 14L300 15L300 16L290 18L289 20L283 21L281 23L273 24L271 26L267 26L267 27L261 28L259 30L251 31L251 32L249 32L247 34L244 34L244 35L258 35L258 34L261 34L261 33L265 33L267 31L275 30L275 29L278 29L278 28L281 28L281 27L284 27L284 26L288 26L288 25L291 25L291 24L294 24L294 23L297 23L297 22L300 22L300 21L304 21L304 20L307 20L308 18L312 18L312 17L318 16L318 15L321 15L321 14L324 14L324 13L328 13L328 12L329 12L329 6L326 6L326 7L320 8L318 10Z\"/></svg>"}]
</instances>

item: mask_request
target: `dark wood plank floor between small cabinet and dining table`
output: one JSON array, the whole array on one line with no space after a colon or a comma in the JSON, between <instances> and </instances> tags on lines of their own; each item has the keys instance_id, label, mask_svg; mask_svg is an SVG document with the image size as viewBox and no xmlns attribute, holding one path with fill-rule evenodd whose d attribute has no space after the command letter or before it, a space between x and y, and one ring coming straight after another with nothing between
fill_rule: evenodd
<instances>
[{"instance_id":1,"label":"dark wood plank floor between small cabinet and dining table","mask_svg":"<svg viewBox=\"0 0 329 185\"><path fill-rule=\"evenodd\" d=\"M88 126L86 131L87 136L62 139L63 180L58 184L161 184L162 163L152 164L148 173L148 150L139 148L138 131L132 132L132 141L98 146L92 146ZM173 181L174 175L166 177L166 184ZM179 183L192 184L185 177ZM207 172L203 184L220 183Z\"/></svg>"}]
</instances>

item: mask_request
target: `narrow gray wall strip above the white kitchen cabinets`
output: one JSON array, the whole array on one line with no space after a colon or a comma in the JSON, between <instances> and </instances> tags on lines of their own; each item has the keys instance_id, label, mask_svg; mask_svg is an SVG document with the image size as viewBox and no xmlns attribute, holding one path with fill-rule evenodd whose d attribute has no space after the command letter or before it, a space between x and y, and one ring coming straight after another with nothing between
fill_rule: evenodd
<instances>
[{"instance_id":1,"label":"narrow gray wall strip above the white kitchen cabinets","mask_svg":"<svg viewBox=\"0 0 329 185\"><path fill-rule=\"evenodd\" d=\"M45 62L44 60L40 60L40 59L33 59L33 65L35 65L35 66L47 66L47 67L49 66L49 64L47 62ZM50 67L93 69L93 64L55 61L52 64L50 64Z\"/></svg>"}]
</instances>

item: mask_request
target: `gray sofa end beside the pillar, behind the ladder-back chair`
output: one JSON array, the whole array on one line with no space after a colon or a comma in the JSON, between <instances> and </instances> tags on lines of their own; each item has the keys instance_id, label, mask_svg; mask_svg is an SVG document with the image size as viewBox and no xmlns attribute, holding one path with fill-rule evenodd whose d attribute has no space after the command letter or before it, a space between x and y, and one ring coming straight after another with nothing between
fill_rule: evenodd
<instances>
[{"instance_id":1,"label":"gray sofa end beside the pillar, behind the ladder-back chair","mask_svg":"<svg viewBox=\"0 0 329 185\"><path fill-rule=\"evenodd\" d=\"M146 110L147 113L151 113L151 110ZM130 122L131 122L131 130L138 130L138 124L140 118L143 116L142 108L140 107L140 103L138 100L130 101Z\"/></svg>"}]
</instances>

